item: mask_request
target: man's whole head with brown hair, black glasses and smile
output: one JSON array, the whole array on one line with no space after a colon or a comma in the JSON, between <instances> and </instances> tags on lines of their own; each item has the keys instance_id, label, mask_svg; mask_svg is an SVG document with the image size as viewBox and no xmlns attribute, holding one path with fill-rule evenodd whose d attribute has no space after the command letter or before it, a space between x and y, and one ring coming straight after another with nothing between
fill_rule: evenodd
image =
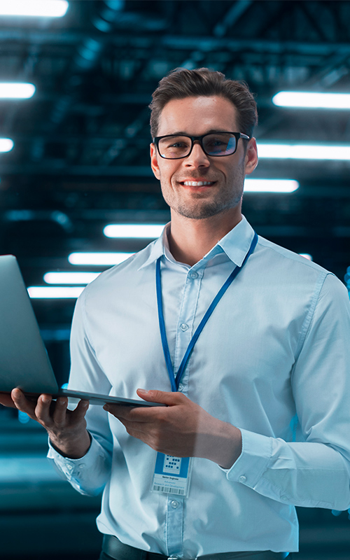
<instances>
[{"instance_id":1,"label":"man's whole head with brown hair, black glasses and smile","mask_svg":"<svg viewBox=\"0 0 350 560\"><path fill-rule=\"evenodd\" d=\"M185 83L181 76L187 76ZM174 80L176 87L170 87ZM230 97L223 94L225 83L231 83ZM232 84L239 85L239 94ZM244 177L258 162L255 139L249 139L255 122L255 102L248 88L225 80L221 73L180 70L163 78L153 94L151 167L172 209L172 220L218 215L222 220L225 214L226 221L238 223Z\"/></svg>"}]
</instances>

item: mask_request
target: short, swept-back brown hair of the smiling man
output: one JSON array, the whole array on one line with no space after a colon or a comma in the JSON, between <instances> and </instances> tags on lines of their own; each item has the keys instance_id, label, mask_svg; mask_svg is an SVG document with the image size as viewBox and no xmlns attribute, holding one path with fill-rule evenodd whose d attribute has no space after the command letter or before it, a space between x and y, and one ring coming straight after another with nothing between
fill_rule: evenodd
<instances>
[{"instance_id":1,"label":"short, swept-back brown hair of the smiling man","mask_svg":"<svg viewBox=\"0 0 350 560\"><path fill-rule=\"evenodd\" d=\"M160 83L152 95L151 135L157 136L160 114L165 105L172 99L185 97L210 97L218 95L228 99L237 109L238 131L251 136L258 123L258 112L253 94L245 82L229 80L221 72L207 68L188 70L176 68Z\"/></svg>"}]
</instances>

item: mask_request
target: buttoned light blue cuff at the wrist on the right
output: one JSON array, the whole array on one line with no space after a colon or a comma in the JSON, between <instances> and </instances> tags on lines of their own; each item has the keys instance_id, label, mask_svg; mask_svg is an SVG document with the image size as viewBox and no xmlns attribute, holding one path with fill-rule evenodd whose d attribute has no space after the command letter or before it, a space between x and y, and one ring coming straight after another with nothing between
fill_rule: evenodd
<instances>
[{"instance_id":1,"label":"buttoned light blue cuff at the wrist on the right","mask_svg":"<svg viewBox=\"0 0 350 560\"><path fill-rule=\"evenodd\" d=\"M240 482L254 488L267 470L272 457L272 437L241 430L242 449L239 458L230 469L223 470L230 482Z\"/></svg>"}]
</instances>

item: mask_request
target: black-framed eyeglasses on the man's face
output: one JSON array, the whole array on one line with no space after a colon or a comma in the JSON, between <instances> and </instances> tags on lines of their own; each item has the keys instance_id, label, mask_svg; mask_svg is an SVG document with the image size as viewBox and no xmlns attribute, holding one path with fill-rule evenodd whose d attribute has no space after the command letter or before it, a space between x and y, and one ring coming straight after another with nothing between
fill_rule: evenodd
<instances>
[{"instance_id":1,"label":"black-framed eyeglasses on the man's face","mask_svg":"<svg viewBox=\"0 0 350 560\"><path fill-rule=\"evenodd\" d=\"M251 137L241 132L211 132L202 136L188 136L187 134L167 134L153 138L158 153L165 160L181 160L192 152L193 144L199 141L206 155L223 158L232 155L237 150L239 139L250 140Z\"/></svg>"}]
</instances>

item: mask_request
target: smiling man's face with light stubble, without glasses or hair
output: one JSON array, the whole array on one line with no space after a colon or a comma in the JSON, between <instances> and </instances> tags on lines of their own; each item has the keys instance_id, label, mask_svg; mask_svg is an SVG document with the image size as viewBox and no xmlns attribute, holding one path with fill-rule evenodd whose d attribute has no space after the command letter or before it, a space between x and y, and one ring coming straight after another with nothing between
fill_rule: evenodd
<instances>
[{"instance_id":1,"label":"smiling man's face with light stubble, without glasses or hair","mask_svg":"<svg viewBox=\"0 0 350 560\"><path fill-rule=\"evenodd\" d=\"M241 132L235 106L224 97L173 99L162 110L158 136L208 132ZM181 160L165 160L151 144L153 173L160 179L165 202L186 218L209 218L221 212L237 212L241 207L244 176L253 172L258 157L255 140L246 151L239 139L237 151L224 157L206 155L198 142ZM201 184L207 182L209 184Z\"/></svg>"}]
</instances>

